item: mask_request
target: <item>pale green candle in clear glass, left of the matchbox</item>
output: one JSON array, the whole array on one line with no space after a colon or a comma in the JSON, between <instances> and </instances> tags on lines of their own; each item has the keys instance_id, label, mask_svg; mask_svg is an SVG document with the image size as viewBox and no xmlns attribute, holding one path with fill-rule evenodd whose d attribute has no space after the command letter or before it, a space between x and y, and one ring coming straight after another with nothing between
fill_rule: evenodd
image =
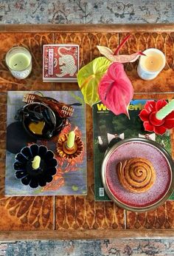
<instances>
[{"instance_id":1,"label":"pale green candle in clear glass, left of the matchbox","mask_svg":"<svg viewBox=\"0 0 174 256\"><path fill-rule=\"evenodd\" d=\"M11 48L6 54L5 61L15 78L27 78L32 71L32 55L24 47Z\"/></svg>"}]
</instances>

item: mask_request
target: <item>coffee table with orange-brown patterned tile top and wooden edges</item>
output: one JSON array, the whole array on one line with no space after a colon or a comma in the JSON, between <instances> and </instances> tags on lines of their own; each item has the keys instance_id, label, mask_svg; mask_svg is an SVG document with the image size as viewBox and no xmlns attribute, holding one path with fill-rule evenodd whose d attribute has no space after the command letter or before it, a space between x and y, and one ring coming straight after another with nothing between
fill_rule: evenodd
<instances>
[{"instance_id":1,"label":"coffee table with orange-brown patterned tile top and wooden edges","mask_svg":"<svg viewBox=\"0 0 174 256\"><path fill-rule=\"evenodd\" d=\"M133 82L134 98L173 98L174 25L0 25L0 33L0 240L173 237L174 201L167 201L152 212L139 214L120 209L113 202L94 201L90 107L86 110L87 196L4 197L3 192L7 90L78 90L76 83L43 83L43 44L80 44L82 67L99 56L97 44L114 50L119 41L131 33L121 53L157 47L167 56L166 67L153 81L142 81L138 77L137 62L125 65ZM32 53L32 74L24 81L13 78L4 62L7 50L15 45L27 47Z\"/></svg>"}]
</instances>

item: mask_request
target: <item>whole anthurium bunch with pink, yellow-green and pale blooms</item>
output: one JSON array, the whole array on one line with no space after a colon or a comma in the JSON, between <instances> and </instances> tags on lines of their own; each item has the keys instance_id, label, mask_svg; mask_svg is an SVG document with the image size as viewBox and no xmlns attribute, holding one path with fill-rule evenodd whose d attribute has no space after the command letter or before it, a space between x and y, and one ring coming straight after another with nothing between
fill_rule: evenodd
<instances>
[{"instance_id":1,"label":"whole anthurium bunch with pink, yellow-green and pale blooms","mask_svg":"<svg viewBox=\"0 0 174 256\"><path fill-rule=\"evenodd\" d=\"M92 106L102 101L116 115L128 115L128 106L133 98L133 87L122 63L136 61L139 55L145 55L140 51L119 55L119 50L128 38L130 35L125 37L114 52L108 47L97 46L105 57L95 58L77 73L77 82L85 102Z\"/></svg>"}]
</instances>

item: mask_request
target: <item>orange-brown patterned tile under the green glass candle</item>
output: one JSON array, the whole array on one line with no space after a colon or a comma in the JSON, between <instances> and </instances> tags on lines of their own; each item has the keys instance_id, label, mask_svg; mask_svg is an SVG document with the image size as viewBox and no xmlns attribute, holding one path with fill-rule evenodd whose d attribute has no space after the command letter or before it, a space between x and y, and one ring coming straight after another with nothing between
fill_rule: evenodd
<instances>
[{"instance_id":1,"label":"orange-brown patterned tile under the green glass candle","mask_svg":"<svg viewBox=\"0 0 174 256\"><path fill-rule=\"evenodd\" d=\"M1 33L0 90L52 90L42 81L42 46L54 43L52 33ZM12 47L26 47L32 55L32 73L24 80L14 78L7 69L5 55Z\"/></svg>"}]
</instances>

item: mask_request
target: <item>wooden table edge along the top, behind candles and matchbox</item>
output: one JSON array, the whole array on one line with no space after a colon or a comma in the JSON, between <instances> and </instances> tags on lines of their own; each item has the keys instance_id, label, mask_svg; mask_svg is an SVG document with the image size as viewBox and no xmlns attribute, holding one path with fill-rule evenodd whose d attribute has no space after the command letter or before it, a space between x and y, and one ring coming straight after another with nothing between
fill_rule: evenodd
<instances>
[{"instance_id":1,"label":"wooden table edge along the top, behind candles and matchbox","mask_svg":"<svg viewBox=\"0 0 174 256\"><path fill-rule=\"evenodd\" d=\"M0 24L0 33L121 33L121 32L170 32L170 24Z\"/></svg>"}]
</instances>

